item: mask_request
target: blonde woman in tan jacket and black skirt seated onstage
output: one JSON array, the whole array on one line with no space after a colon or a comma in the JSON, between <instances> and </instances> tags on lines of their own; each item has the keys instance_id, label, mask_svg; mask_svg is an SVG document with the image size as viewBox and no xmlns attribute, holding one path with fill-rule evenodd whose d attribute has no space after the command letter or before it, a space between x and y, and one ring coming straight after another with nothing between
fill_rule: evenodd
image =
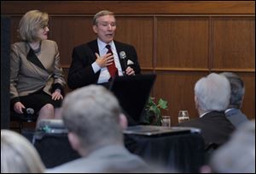
<instances>
[{"instance_id":1,"label":"blonde woman in tan jacket and black skirt seated onstage","mask_svg":"<svg viewBox=\"0 0 256 174\"><path fill-rule=\"evenodd\" d=\"M28 11L20 20L22 42L11 46L10 98L15 112L32 108L41 119L60 118L66 84L56 42L48 38L49 16Z\"/></svg>"}]
</instances>

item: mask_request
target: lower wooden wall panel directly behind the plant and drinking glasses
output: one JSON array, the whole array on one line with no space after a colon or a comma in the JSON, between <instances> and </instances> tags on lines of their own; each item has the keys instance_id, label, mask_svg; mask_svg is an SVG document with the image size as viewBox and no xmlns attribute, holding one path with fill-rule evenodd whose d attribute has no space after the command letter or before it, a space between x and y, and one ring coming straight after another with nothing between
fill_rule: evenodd
<instances>
[{"instance_id":1,"label":"lower wooden wall panel directly behind the plant and drinking glasses","mask_svg":"<svg viewBox=\"0 0 256 174\"><path fill-rule=\"evenodd\" d=\"M171 115L172 126L177 124L177 113L180 109L189 110L191 118L198 117L195 109L194 86L207 72L159 72L154 84L154 97L168 101L169 109L164 114Z\"/></svg>"}]
</instances>

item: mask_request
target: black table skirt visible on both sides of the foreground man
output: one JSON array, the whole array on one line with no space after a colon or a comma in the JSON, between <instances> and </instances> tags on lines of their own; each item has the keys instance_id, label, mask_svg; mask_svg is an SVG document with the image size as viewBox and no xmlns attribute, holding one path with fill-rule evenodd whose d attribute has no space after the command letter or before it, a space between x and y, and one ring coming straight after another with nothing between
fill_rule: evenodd
<instances>
[{"instance_id":1,"label":"black table skirt visible on both sides of the foreground man","mask_svg":"<svg viewBox=\"0 0 256 174\"><path fill-rule=\"evenodd\" d=\"M79 158L67 133L23 132L38 150L47 168ZM125 147L149 164L170 171L196 172L204 163L204 141L200 133L142 136L125 134Z\"/></svg>"}]
</instances>

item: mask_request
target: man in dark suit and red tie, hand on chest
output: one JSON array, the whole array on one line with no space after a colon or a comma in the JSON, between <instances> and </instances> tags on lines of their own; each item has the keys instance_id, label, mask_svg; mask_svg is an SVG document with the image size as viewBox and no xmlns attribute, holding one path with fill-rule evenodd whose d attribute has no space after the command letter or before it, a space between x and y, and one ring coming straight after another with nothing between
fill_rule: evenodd
<instances>
[{"instance_id":1,"label":"man in dark suit and red tie, hand on chest","mask_svg":"<svg viewBox=\"0 0 256 174\"><path fill-rule=\"evenodd\" d=\"M113 12L102 10L95 14L93 31L97 39L73 48L68 87L75 89L93 83L108 85L108 81L114 76L133 76L140 73L135 48L114 41L115 30ZM110 70L110 67L114 70Z\"/></svg>"}]
</instances>

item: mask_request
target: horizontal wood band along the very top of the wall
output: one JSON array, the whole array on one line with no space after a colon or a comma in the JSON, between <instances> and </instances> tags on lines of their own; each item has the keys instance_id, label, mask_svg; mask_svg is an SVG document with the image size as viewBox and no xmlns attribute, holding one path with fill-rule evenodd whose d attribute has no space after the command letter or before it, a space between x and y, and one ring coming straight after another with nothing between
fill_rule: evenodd
<instances>
[{"instance_id":1,"label":"horizontal wood band along the very top of the wall","mask_svg":"<svg viewBox=\"0 0 256 174\"><path fill-rule=\"evenodd\" d=\"M95 14L99 7L115 14L255 14L254 1L1 1L1 14L25 14L31 9Z\"/></svg>"}]
</instances>

